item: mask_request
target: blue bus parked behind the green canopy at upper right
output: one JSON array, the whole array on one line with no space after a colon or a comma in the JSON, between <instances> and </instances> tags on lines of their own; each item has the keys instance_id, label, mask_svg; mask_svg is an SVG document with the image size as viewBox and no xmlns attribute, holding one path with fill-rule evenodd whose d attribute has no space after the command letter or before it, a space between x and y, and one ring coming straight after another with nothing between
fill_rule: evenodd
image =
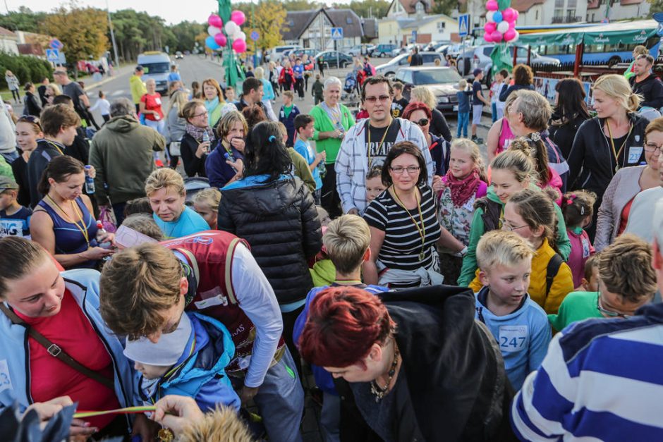
<instances>
[{"instance_id":1,"label":"blue bus parked behind the green canopy at upper right","mask_svg":"<svg viewBox=\"0 0 663 442\"><path fill-rule=\"evenodd\" d=\"M662 35L663 28L655 20L638 20L530 32L521 35L518 43L558 59L562 65L576 62L576 47L583 43L582 64L614 66L633 60L633 49L638 45L645 46L657 59Z\"/></svg>"}]
</instances>

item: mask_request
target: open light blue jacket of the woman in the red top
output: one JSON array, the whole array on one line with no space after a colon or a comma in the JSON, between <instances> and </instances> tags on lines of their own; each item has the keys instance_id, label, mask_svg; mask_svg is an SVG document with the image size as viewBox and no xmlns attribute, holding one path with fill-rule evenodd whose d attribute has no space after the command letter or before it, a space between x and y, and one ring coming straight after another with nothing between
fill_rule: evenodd
<instances>
[{"instance_id":1,"label":"open light blue jacket of the woman in the red top","mask_svg":"<svg viewBox=\"0 0 663 442\"><path fill-rule=\"evenodd\" d=\"M92 269L69 270L61 273L65 287L90 320L97 336L108 349L113 362L115 395L121 407L134 405L134 371L123 355L123 345L104 324L99 314L99 272ZM30 378L28 336L21 325L14 325L0 313L0 410L18 401L20 412L32 403L28 398Z\"/></svg>"}]
</instances>

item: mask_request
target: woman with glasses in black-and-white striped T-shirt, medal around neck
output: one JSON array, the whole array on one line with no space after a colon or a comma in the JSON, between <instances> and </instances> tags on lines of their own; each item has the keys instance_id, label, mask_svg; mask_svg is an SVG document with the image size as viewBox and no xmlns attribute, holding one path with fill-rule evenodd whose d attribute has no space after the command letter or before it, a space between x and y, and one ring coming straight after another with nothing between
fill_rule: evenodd
<instances>
[{"instance_id":1,"label":"woman with glasses in black-and-white striped T-shirt, medal around neck","mask_svg":"<svg viewBox=\"0 0 663 442\"><path fill-rule=\"evenodd\" d=\"M426 160L413 142L394 144L382 166L387 191L364 212L371 231L364 282L402 289L441 284L435 245L463 250L463 243L440 227Z\"/></svg>"}]
</instances>

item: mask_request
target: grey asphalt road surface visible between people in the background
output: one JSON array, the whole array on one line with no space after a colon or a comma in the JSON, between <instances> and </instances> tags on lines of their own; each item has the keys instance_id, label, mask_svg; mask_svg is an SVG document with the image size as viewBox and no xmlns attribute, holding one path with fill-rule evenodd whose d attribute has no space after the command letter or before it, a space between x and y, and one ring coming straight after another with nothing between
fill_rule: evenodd
<instances>
[{"instance_id":1,"label":"grey asphalt road surface visible between people in the background","mask_svg":"<svg viewBox=\"0 0 663 442\"><path fill-rule=\"evenodd\" d=\"M372 63L375 66L379 66L382 63L387 63L389 60L390 59L372 59ZM202 56L198 55L190 55L190 56L185 56L184 59L182 60L177 60L177 64L182 80L185 86L188 88L190 87L191 82L197 81L200 84L202 84L202 81L205 80L205 78L214 78L219 82L223 82L224 80L223 67L217 61L205 59ZM330 69L330 70L325 70L325 75L326 76L335 75L336 77L341 79L341 82L343 82L346 74L350 70L351 68ZM104 82L104 84L102 85L88 87L86 92L90 96L90 102L92 104L95 103L95 101L97 100L97 93L100 89L106 92L107 98L109 99L110 102L112 102L114 99L117 99L119 97L127 97L128 99L131 99L131 94L129 90L129 78L131 73L132 73L131 69L126 69L123 72L119 73L115 78L107 82ZM312 79L309 80L309 85L308 85L309 88L307 93L305 94L305 98L303 100L300 100L297 97L295 98L295 104L303 113L309 112L313 107L313 98L310 94L310 87L312 85L312 81L313 81ZM168 106L168 97L163 97L162 102L164 109L166 109L166 107ZM279 109L281 109L282 104L283 102L281 100L281 97L276 97L276 100L274 101L274 113L279 112ZM97 111L95 111L95 119L99 123L103 121L101 115ZM456 117L447 116L447 121L451 128L451 133L455 136ZM478 128L478 136L480 138L485 140L489 126L490 126L490 118L484 116L482 118L482 124ZM482 154L485 156L485 145L482 145L481 148L482 148Z\"/></svg>"}]
</instances>

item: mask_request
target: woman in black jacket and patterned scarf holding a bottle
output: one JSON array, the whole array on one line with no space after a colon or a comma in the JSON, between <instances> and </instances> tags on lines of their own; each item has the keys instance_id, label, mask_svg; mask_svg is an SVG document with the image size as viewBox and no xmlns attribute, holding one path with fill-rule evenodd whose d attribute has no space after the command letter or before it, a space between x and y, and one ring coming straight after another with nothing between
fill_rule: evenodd
<instances>
[{"instance_id":1,"label":"woman in black jacket and patterned scarf holding a bottle","mask_svg":"<svg viewBox=\"0 0 663 442\"><path fill-rule=\"evenodd\" d=\"M205 103L194 99L184 105L180 116L185 119L185 134L180 144L180 154L187 176L207 177L205 160L214 142L214 130L209 125L209 113Z\"/></svg>"}]
</instances>

